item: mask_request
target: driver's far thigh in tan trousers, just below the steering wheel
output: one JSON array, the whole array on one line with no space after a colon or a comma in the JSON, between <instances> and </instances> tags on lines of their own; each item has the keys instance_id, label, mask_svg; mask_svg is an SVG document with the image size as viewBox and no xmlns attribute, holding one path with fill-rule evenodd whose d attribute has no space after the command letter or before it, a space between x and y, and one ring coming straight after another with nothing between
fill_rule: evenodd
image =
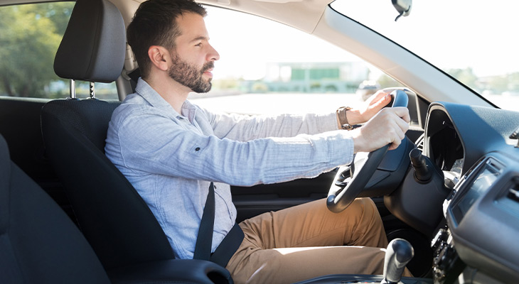
<instances>
[{"instance_id":1,"label":"driver's far thigh in tan trousers, just below the steering wheel","mask_svg":"<svg viewBox=\"0 0 519 284\"><path fill-rule=\"evenodd\" d=\"M306 246L376 246L387 239L378 210L369 198L358 198L341 213L326 200L267 212L240 224L262 249Z\"/></svg>"}]
</instances>

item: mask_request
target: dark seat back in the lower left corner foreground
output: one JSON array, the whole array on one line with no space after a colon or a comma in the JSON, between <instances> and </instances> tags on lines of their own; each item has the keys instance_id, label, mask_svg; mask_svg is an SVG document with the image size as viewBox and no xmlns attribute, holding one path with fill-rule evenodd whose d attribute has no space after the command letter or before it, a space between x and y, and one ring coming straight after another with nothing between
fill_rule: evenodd
<instances>
[{"instance_id":1,"label":"dark seat back in the lower left corner foreground","mask_svg":"<svg viewBox=\"0 0 519 284\"><path fill-rule=\"evenodd\" d=\"M0 282L109 283L62 209L15 165L0 136Z\"/></svg>"}]
</instances>

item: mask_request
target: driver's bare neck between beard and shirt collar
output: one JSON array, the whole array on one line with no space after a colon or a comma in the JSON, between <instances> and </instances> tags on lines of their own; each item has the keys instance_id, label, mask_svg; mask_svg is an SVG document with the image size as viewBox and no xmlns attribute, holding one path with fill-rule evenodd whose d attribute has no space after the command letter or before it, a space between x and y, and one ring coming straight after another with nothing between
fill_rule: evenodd
<instances>
[{"instance_id":1,"label":"driver's bare neck between beard and shirt collar","mask_svg":"<svg viewBox=\"0 0 519 284\"><path fill-rule=\"evenodd\" d=\"M191 89L166 76L150 76L145 81L152 87L161 97L173 107L173 109L181 113L182 105L188 99Z\"/></svg>"}]
</instances>

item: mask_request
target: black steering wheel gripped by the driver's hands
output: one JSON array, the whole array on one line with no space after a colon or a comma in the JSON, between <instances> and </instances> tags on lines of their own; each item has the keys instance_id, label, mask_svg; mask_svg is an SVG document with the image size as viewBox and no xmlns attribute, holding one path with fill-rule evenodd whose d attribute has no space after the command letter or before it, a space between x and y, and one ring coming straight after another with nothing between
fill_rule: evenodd
<instances>
[{"instance_id":1,"label":"black steering wheel gripped by the driver's hands","mask_svg":"<svg viewBox=\"0 0 519 284\"><path fill-rule=\"evenodd\" d=\"M397 89L391 92L391 96L393 100L392 107L407 107L408 98L404 91ZM387 148L389 148L389 145L370 152L367 159L355 163L355 170L351 180L344 188L331 186L326 200L326 206L331 212L342 212L355 200L368 184L375 170L377 170L378 165L387 152Z\"/></svg>"}]
</instances>

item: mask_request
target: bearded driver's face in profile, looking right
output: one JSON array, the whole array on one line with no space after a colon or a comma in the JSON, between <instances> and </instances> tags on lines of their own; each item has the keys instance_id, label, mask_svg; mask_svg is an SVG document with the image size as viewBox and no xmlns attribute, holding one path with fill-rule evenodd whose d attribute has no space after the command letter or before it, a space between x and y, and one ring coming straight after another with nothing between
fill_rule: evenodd
<instances>
[{"instance_id":1,"label":"bearded driver's face in profile, looking right","mask_svg":"<svg viewBox=\"0 0 519 284\"><path fill-rule=\"evenodd\" d=\"M181 35L175 40L176 48L170 52L172 65L168 75L193 92L209 92L218 52L209 44L203 17L184 13L176 19Z\"/></svg>"}]
</instances>

